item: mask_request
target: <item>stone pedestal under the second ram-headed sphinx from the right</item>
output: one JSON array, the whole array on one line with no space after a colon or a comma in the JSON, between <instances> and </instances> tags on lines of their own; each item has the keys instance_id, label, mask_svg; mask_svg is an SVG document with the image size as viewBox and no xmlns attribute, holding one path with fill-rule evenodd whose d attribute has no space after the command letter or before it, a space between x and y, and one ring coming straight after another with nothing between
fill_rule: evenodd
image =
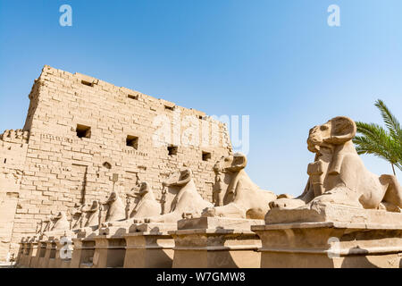
<instances>
[{"instance_id":1,"label":"stone pedestal under the second ram-headed sphinx from the right","mask_svg":"<svg viewBox=\"0 0 402 286\"><path fill-rule=\"evenodd\" d=\"M175 243L174 268L254 268L261 241L250 226L262 220L201 217L178 222L169 231Z\"/></svg>"}]
</instances>

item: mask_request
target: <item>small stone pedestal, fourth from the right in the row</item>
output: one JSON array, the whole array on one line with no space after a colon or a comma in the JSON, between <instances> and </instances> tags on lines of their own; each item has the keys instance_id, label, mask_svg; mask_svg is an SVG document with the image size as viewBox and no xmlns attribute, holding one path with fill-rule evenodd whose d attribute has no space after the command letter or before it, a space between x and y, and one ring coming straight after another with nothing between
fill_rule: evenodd
<instances>
[{"instance_id":1,"label":"small stone pedestal, fourth from the right in the row","mask_svg":"<svg viewBox=\"0 0 402 286\"><path fill-rule=\"evenodd\" d=\"M121 236L98 235L95 240L93 267L122 267L126 253L126 241Z\"/></svg>"}]
</instances>

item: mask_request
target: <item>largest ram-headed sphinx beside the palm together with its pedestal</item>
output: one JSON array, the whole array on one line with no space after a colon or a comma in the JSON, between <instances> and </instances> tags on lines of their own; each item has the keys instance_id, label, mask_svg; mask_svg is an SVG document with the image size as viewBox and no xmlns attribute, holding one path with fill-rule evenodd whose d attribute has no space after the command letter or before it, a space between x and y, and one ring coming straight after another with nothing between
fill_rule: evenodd
<instances>
[{"instance_id":1,"label":"largest ram-headed sphinx beside the palm together with its pedestal","mask_svg":"<svg viewBox=\"0 0 402 286\"><path fill-rule=\"evenodd\" d=\"M310 130L305 191L272 201L266 224L251 227L262 240L261 267L402 265L402 188L364 167L355 135L356 123L341 116Z\"/></svg>"}]
</instances>

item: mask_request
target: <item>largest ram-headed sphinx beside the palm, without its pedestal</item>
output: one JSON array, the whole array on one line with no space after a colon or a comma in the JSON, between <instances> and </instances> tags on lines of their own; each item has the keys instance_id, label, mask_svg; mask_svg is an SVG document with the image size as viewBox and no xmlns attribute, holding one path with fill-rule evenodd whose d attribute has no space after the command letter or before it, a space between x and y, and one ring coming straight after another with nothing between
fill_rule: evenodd
<instances>
[{"instance_id":1,"label":"largest ram-headed sphinx beside the palm, without its pedestal","mask_svg":"<svg viewBox=\"0 0 402 286\"><path fill-rule=\"evenodd\" d=\"M307 168L309 179L305 191L294 199L275 200L270 206L337 204L400 212L402 187L397 178L369 172L353 145L355 136L356 123L343 116L310 130L308 150L315 154L315 160Z\"/></svg>"}]
</instances>

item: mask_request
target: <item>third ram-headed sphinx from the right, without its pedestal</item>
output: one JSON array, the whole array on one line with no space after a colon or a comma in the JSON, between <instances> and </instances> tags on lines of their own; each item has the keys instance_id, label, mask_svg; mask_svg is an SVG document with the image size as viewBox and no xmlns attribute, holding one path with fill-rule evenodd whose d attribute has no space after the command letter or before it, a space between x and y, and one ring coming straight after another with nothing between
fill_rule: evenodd
<instances>
[{"instance_id":1,"label":"third ram-headed sphinx from the right, without its pedestal","mask_svg":"<svg viewBox=\"0 0 402 286\"><path fill-rule=\"evenodd\" d=\"M189 168L172 172L163 186L173 189L176 196L172 200L170 212L145 219L145 223L176 223L187 214L200 215L206 207L213 206L197 192L193 172Z\"/></svg>"}]
</instances>

